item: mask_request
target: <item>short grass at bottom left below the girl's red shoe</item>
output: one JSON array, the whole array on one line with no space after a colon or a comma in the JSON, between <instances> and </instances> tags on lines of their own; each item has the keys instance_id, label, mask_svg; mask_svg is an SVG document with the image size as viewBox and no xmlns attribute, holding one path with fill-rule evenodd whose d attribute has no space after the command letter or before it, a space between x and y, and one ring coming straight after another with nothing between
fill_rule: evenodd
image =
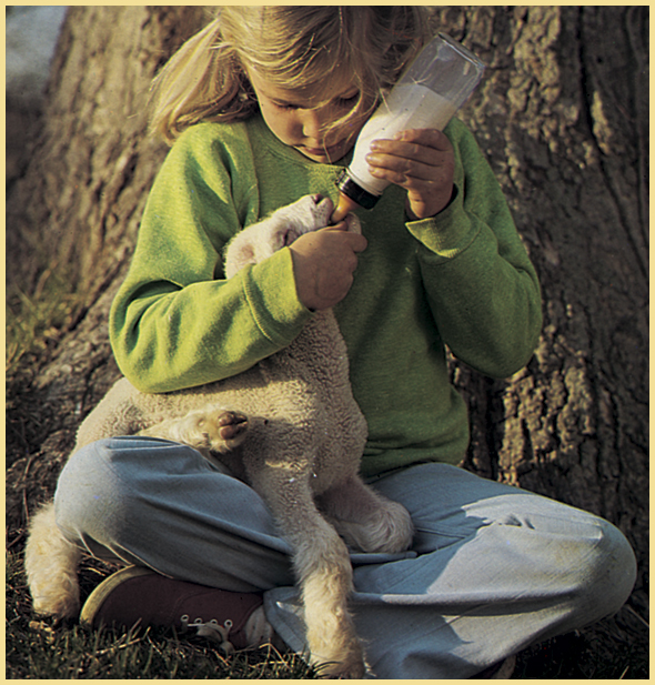
<instances>
[{"instance_id":1,"label":"short grass at bottom left below the girl's red shoe","mask_svg":"<svg viewBox=\"0 0 655 685\"><path fill-rule=\"evenodd\" d=\"M87 574L93 571L87 568ZM80 625L56 625L32 615L17 554L6 561L7 678L315 678L316 672L294 654L273 647L225 657L199 638L181 639L171 629L121 634Z\"/></svg>"}]
</instances>

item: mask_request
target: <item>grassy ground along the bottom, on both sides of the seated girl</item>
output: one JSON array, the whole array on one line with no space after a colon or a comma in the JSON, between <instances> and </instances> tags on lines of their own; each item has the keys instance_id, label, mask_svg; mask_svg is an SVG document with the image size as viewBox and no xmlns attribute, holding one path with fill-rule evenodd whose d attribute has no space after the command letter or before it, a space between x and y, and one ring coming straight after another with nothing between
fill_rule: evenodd
<instances>
[{"instance_id":1,"label":"grassy ground along the bottom, on both sides of the seated girl","mask_svg":"<svg viewBox=\"0 0 655 685\"><path fill-rule=\"evenodd\" d=\"M18 538L17 538L18 540ZM225 657L202 638L180 638L164 628L120 634L40 621L18 553L6 563L7 678L240 678L313 679L319 673L294 654L273 648ZM87 560L82 596L112 567ZM586 631L550 639L517 657L512 679L648 679L648 626L626 605Z\"/></svg>"}]
</instances>

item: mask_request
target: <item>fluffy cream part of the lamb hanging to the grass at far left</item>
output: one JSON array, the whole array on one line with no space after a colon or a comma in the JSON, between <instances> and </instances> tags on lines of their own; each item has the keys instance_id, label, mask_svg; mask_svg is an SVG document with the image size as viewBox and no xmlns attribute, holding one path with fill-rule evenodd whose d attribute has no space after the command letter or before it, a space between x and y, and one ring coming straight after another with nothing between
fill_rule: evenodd
<instances>
[{"instance_id":1,"label":"fluffy cream part of the lamb hanging to the grass at far left","mask_svg":"<svg viewBox=\"0 0 655 685\"><path fill-rule=\"evenodd\" d=\"M70 617L80 610L80 550L68 542L54 522L54 504L33 516L26 545L26 572L38 614Z\"/></svg>"}]
</instances>

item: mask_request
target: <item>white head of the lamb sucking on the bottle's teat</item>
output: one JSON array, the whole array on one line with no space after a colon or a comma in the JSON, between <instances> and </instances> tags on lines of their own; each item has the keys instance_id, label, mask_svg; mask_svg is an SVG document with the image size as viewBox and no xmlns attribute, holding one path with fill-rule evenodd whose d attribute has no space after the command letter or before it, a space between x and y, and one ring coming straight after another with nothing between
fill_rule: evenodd
<instances>
[{"instance_id":1,"label":"white head of the lamb sucking on the bottle's teat","mask_svg":"<svg viewBox=\"0 0 655 685\"><path fill-rule=\"evenodd\" d=\"M330 198L304 195L292 204L275 210L258 223L238 233L225 250L225 276L232 278L248 264L258 264L278 250L290 245L303 233L324 229L330 223L334 205ZM354 214L345 219L346 230L360 233Z\"/></svg>"}]
</instances>

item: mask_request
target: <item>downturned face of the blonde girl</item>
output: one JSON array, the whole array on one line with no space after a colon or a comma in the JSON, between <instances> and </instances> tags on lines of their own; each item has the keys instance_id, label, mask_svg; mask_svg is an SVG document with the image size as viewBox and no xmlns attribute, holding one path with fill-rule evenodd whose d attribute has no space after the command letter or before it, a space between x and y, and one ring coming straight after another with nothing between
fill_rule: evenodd
<instances>
[{"instance_id":1,"label":"downturned face of the blonde girl","mask_svg":"<svg viewBox=\"0 0 655 685\"><path fill-rule=\"evenodd\" d=\"M328 104L316 107L318 102L324 102L324 91L271 85L252 69L248 75L266 125L285 145L324 164L341 159L354 145L366 120L365 114L354 117L336 129L331 124L355 107L360 94L356 87L344 88Z\"/></svg>"}]
</instances>

